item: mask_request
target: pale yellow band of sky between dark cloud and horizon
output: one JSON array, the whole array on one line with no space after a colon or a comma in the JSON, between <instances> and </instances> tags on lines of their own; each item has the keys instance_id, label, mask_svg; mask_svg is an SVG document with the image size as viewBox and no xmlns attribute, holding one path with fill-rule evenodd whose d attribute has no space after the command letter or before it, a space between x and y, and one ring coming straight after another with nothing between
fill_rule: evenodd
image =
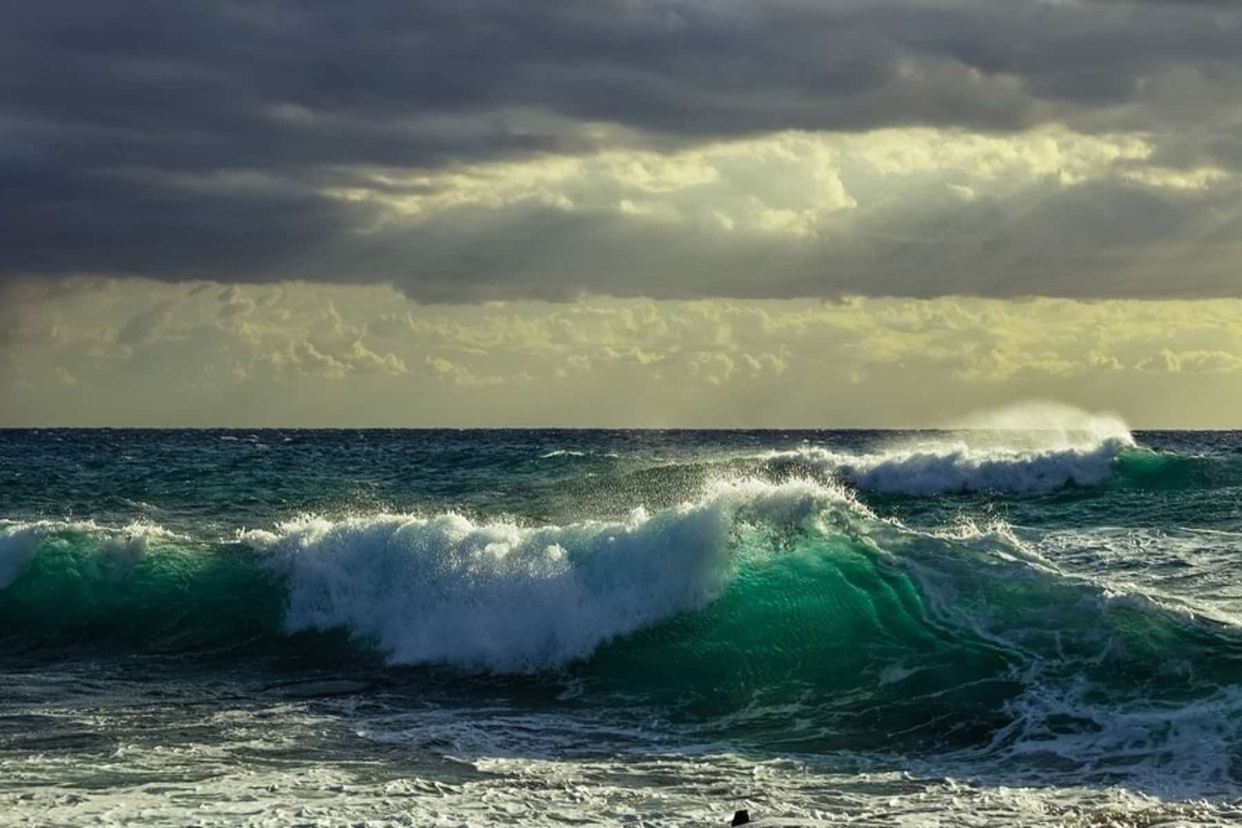
<instances>
[{"instance_id":1,"label":"pale yellow band of sky between dark cloud and horizon","mask_svg":"<svg viewBox=\"0 0 1242 828\"><path fill-rule=\"evenodd\" d=\"M0 426L908 427L1051 397L1228 427L1242 407L1240 300L425 307L134 279L24 300Z\"/></svg>"}]
</instances>

